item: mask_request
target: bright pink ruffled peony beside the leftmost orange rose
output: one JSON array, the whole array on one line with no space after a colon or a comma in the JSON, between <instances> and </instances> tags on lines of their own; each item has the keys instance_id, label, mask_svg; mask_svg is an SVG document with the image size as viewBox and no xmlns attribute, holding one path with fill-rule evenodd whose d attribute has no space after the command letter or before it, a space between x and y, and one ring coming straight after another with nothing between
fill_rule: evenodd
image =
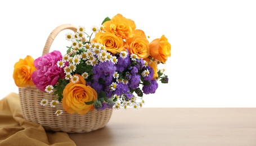
<instances>
[{"instance_id":1,"label":"bright pink ruffled peony beside the leftmost orange rose","mask_svg":"<svg viewBox=\"0 0 256 146\"><path fill-rule=\"evenodd\" d=\"M64 70L57 66L57 61L61 59L61 53L53 51L34 61L37 70L32 73L32 81L37 89L44 91L47 85L55 85L59 78L65 77Z\"/></svg>"}]
</instances>

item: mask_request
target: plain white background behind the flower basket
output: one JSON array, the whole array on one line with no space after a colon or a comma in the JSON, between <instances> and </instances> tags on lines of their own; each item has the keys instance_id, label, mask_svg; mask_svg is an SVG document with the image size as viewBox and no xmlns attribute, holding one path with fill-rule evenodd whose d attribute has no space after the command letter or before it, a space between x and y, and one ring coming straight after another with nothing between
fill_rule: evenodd
<instances>
[{"instance_id":1,"label":"plain white background behind the flower basket","mask_svg":"<svg viewBox=\"0 0 256 146\"><path fill-rule=\"evenodd\" d=\"M255 7L253 1L1 1L0 99L17 93L15 62L41 56L54 28L89 29L121 13L151 39L164 34L172 45L163 66L169 84L145 95L145 107L256 107ZM66 32L51 51L66 51Z\"/></svg>"}]
</instances>

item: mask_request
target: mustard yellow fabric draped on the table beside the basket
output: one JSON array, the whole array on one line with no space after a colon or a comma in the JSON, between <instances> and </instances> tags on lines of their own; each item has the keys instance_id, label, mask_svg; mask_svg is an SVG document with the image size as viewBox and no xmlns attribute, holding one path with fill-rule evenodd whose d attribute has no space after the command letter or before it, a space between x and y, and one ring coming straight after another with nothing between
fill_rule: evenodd
<instances>
[{"instance_id":1,"label":"mustard yellow fabric draped on the table beside the basket","mask_svg":"<svg viewBox=\"0 0 256 146\"><path fill-rule=\"evenodd\" d=\"M0 146L75 145L67 133L45 131L41 125L23 118L19 95L11 93L0 101Z\"/></svg>"}]
</instances>

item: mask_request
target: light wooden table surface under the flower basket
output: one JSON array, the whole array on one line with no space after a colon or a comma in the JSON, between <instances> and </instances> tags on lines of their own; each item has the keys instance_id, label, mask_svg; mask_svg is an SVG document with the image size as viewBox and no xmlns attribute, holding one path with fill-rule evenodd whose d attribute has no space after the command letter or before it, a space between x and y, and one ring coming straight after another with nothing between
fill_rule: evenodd
<instances>
[{"instance_id":1,"label":"light wooden table surface under the flower basket","mask_svg":"<svg viewBox=\"0 0 256 146\"><path fill-rule=\"evenodd\" d=\"M119 109L103 129L69 135L78 146L255 146L256 108Z\"/></svg>"}]
</instances>

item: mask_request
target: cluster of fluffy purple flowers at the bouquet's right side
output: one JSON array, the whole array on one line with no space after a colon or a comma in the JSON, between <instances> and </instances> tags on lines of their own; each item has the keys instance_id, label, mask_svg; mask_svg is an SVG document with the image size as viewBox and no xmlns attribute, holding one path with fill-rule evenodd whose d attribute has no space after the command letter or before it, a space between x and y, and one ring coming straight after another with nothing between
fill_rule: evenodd
<instances>
[{"instance_id":1,"label":"cluster of fluffy purple flowers at the bouquet's right side","mask_svg":"<svg viewBox=\"0 0 256 146\"><path fill-rule=\"evenodd\" d=\"M129 52L127 57L121 57L119 54L115 55L118 58L118 62L114 64L111 61L100 62L95 65L92 69L92 81L88 81L87 85L91 85L93 89L97 92L104 92L107 98L113 97L113 95L118 95L123 97L125 101L129 101L134 97L135 93L155 93L158 88L158 83L155 79L152 80L154 75L154 70L145 65L145 61L137 59L135 61L131 60L129 57ZM149 70L149 74L146 76L142 75L142 72ZM119 78L115 79L113 75L117 72ZM115 84L115 88L111 89L111 84ZM140 84L143 86L142 91L140 89ZM138 94L139 95L139 94ZM140 94L139 96L142 97ZM113 100L107 100L105 102L95 102L95 108L98 110L103 110L105 108L112 108L114 106Z\"/></svg>"}]
</instances>

